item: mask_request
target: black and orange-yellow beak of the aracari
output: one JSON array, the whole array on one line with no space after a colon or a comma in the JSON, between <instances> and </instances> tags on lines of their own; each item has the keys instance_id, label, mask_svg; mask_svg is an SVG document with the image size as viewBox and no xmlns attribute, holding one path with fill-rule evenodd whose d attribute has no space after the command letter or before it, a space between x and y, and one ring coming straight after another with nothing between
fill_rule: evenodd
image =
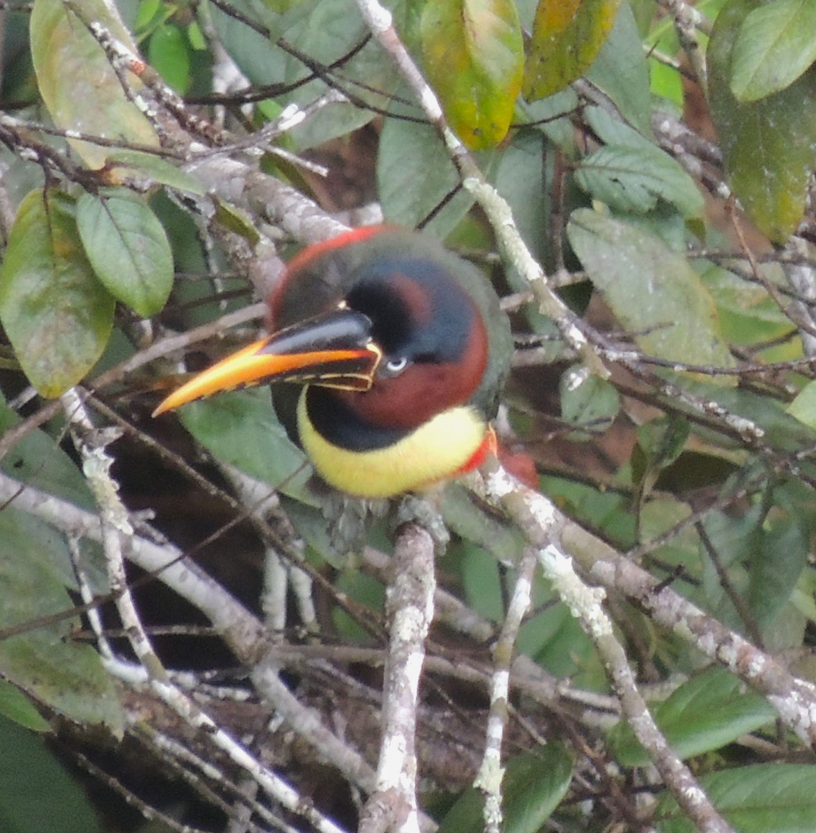
<instances>
[{"instance_id":1,"label":"black and orange-yellow beak of the aracari","mask_svg":"<svg viewBox=\"0 0 816 833\"><path fill-rule=\"evenodd\" d=\"M153 416L212 393L263 382L308 382L368 391L382 352L371 321L344 305L294 324L228 356L170 394Z\"/></svg>"}]
</instances>

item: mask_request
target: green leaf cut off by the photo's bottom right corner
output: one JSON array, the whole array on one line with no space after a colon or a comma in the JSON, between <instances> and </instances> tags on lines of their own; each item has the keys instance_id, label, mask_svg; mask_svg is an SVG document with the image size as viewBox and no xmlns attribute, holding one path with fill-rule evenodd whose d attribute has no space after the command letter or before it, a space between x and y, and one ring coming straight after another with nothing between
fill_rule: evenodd
<instances>
[{"instance_id":1,"label":"green leaf cut off by the photo's bottom right corner","mask_svg":"<svg viewBox=\"0 0 816 833\"><path fill-rule=\"evenodd\" d=\"M816 818L816 767L755 764L701 776L700 786L739 833L812 833ZM667 793L658 802L658 833L695 833L697 826Z\"/></svg>"}]
</instances>

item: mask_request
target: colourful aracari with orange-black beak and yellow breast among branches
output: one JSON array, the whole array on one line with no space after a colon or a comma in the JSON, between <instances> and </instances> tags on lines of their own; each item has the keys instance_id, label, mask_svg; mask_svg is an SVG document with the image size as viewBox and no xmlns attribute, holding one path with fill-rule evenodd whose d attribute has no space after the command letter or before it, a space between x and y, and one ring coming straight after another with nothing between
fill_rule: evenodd
<instances>
[{"instance_id":1,"label":"colourful aracari with orange-black beak and yellow breast among branches","mask_svg":"<svg viewBox=\"0 0 816 833\"><path fill-rule=\"evenodd\" d=\"M269 300L272 335L154 416L263 382L302 386L297 440L331 486L423 491L481 464L508 373L508 319L482 272L423 232L375 226L307 247Z\"/></svg>"}]
</instances>

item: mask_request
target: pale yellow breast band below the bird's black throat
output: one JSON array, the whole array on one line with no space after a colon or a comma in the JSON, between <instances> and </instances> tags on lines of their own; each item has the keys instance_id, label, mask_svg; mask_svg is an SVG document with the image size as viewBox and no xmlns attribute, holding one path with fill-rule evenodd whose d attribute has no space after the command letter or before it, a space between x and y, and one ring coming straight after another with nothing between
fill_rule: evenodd
<instances>
[{"instance_id":1,"label":"pale yellow breast band below the bird's black throat","mask_svg":"<svg viewBox=\"0 0 816 833\"><path fill-rule=\"evenodd\" d=\"M452 476L478 451L487 426L469 406L449 409L387 448L349 451L318 434L298 400L298 435L318 474L332 486L360 497L391 497Z\"/></svg>"}]
</instances>

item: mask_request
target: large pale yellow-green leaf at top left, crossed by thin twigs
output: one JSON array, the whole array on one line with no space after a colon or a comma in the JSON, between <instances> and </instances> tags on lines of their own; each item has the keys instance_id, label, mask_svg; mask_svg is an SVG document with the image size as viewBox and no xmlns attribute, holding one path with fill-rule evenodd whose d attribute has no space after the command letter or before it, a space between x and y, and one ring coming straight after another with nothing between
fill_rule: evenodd
<instances>
[{"instance_id":1,"label":"large pale yellow-green leaf at top left, crossed by thin twigs","mask_svg":"<svg viewBox=\"0 0 816 833\"><path fill-rule=\"evenodd\" d=\"M78 0L88 20L103 23L129 49L136 47L113 6L104 0ZM128 98L99 44L62 0L35 0L31 15L31 54L39 92L54 123L63 129L158 147L148 119ZM135 76L129 83L142 86ZM103 167L107 147L71 140L88 167Z\"/></svg>"}]
</instances>

